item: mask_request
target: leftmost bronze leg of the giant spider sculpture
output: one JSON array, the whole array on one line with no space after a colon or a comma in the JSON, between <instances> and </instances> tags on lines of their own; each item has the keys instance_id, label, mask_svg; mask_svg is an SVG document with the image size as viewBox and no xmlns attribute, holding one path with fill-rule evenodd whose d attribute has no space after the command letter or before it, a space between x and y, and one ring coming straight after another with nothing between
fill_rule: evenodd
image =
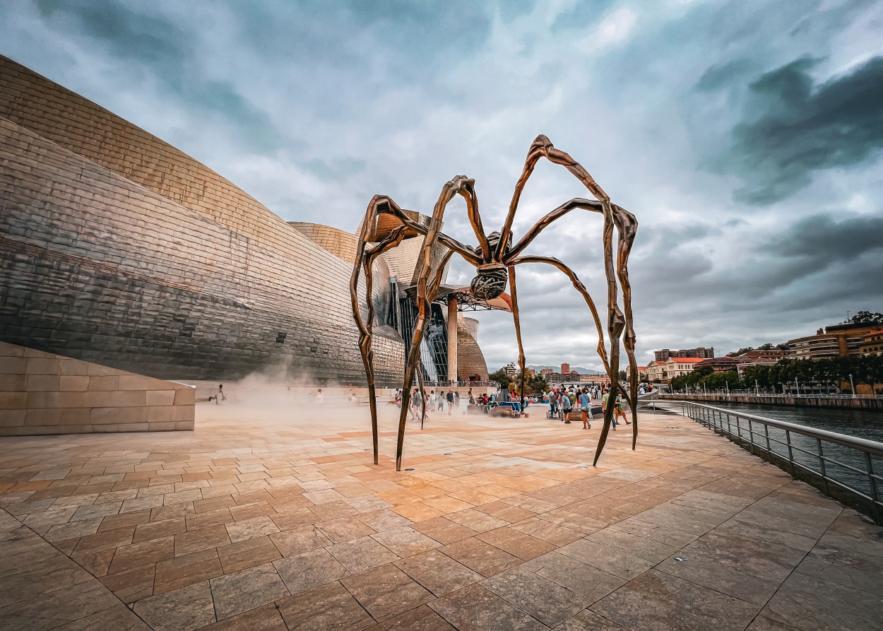
<instances>
[{"instance_id":1,"label":"leftmost bronze leg of the giant spider sculpture","mask_svg":"<svg viewBox=\"0 0 883 631\"><path fill-rule=\"evenodd\" d=\"M372 275L372 265L374 259L391 247L396 247L404 238L404 226L402 230L396 229L390 232L389 237L384 239L380 244L366 251L366 237L368 232L373 229L374 221L382 207L389 206L398 209L395 201L392 201L386 195L374 195L374 198L368 204L365 212L365 218L362 221L362 229L358 235L358 247L356 251L356 260L353 262L352 275L350 277L350 300L352 302L352 315L356 320L358 327L358 352L362 355L362 364L365 367L365 375L368 383L368 405L371 409L371 434L374 445L374 464L378 462L378 429L377 429L377 392L374 386L374 353L371 350L372 330L374 327L374 301L372 300L372 289L374 277ZM361 267L365 268L365 286L366 286L366 302L367 302L367 318L362 320L358 310L358 273Z\"/></svg>"}]
</instances>

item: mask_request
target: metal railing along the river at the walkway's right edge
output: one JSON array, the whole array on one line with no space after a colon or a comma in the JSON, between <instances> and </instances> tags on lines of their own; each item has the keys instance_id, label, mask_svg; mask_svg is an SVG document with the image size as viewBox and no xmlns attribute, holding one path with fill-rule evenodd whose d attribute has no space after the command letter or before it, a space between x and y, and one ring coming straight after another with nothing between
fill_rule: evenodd
<instances>
[{"instance_id":1,"label":"metal railing along the river at the walkway's right edge","mask_svg":"<svg viewBox=\"0 0 883 631\"><path fill-rule=\"evenodd\" d=\"M665 403L680 403L684 416L883 525L883 443L691 401Z\"/></svg>"}]
</instances>

